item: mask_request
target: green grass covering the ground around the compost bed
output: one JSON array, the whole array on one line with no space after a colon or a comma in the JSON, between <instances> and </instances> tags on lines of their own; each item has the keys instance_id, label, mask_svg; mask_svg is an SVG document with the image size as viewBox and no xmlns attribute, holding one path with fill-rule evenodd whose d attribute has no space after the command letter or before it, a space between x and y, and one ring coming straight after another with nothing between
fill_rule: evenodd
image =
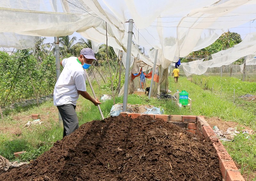
<instances>
[{"instance_id":1,"label":"green grass covering the ground around the compost bed","mask_svg":"<svg viewBox=\"0 0 256 181\"><path fill-rule=\"evenodd\" d=\"M201 84L202 79L202 84ZM174 83L172 77L170 77L170 90L176 92L176 90L186 90L189 93L189 97L192 99L192 111L189 108L179 109L172 100L161 100L157 98L151 98L148 100L147 96L129 95L128 104L139 105L154 105L164 109L164 114L173 115L203 115L206 117L217 116L225 121L235 121L244 126L250 126L255 129L254 122L256 120L255 103L245 102L238 98L239 95L244 95L251 91L251 94L255 94L255 83L240 82L238 79L218 77L206 77L198 76L193 77L192 82L186 77L180 77L178 83ZM238 83L237 83L238 82ZM214 89L211 91L212 83ZM207 89L204 90L205 84L208 84ZM236 85L235 85L236 84ZM92 95L92 92L88 87L88 92ZM94 91L98 98L101 97L102 92L104 94L110 94L110 89L101 89L94 82ZM210 87L210 88L209 88ZM221 96L220 96L220 88ZM236 104L233 103L232 89L237 89L237 96L235 98ZM240 88L240 89L239 89ZM242 101L242 102L241 102ZM116 97L115 102L123 103L123 97ZM237 104L244 104L246 106L240 107ZM109 117L110 109L113 105L113 100L107 100L100 105L104 117ZM100 120L101 116L97 106L82 97L78 99L77 103L77 115L79 124L84 124L91 120ZM30 128L23 128L24 123L30 119L32 113L39 113L44 121L41 125L34 125ZM17 117L19 117L17 119ZM6 132L0 132L0 155L6 157L9 160L29 161L35 159L41 155L57 140L62 138L62 128L59 127L57 108L53 106L52 101L45 102L38 107L34 106L31 109L17 113L13 112L1 120L1 127L12 128L19 127L21 134L11 135ZM1 129L0 129L1 131ZM235 137L234 141L224 142L225 148L228 150L230 156L240 166L241 173L252 175L256 171L256 139L254 135L239 134ZM13 153L16 151L27 152L22 155L21 158L14 158Z\"/></svg>"}]
</instances>

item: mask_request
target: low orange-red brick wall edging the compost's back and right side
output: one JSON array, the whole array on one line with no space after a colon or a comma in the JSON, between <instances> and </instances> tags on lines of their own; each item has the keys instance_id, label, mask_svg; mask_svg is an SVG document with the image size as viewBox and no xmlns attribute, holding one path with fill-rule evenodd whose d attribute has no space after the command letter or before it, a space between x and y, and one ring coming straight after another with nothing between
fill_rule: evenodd
<instances>
[{"instance_id":1,"label":"low orange-red brick wall edging the compost's back and right side","mask_svg":"<svg viewBox=\"0 0 256 181\"><path fill-rule=\"evenodd\" d=\"M137 118L141 115L139 113L121 112L120 115L124 117ZM225 181L245 181L240 171L237 169L231 156L224 148L223 144L217 138L216 134L206 122L202 116L190 116L190 115L165 115L165 114L147 114L150 117L160 118L164 121L171 122L181 128L185 128L187 131L203 136L207 141L212 141L216 153L219 158L220 171L222 178Z\"/></svg>"}]
</instances>

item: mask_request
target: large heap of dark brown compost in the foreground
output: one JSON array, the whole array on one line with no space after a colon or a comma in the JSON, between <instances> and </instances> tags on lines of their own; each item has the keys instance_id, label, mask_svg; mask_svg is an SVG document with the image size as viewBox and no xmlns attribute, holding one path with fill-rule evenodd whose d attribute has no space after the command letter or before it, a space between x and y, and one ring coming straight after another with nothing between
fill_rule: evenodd
<instances>
[{"instance_id":1,"label":"large heap of dark brown compost in the foreground","mask_svg":"<svg viewBox=\"0 0 256 181\"><path fill-rule=\"evenodd\" d=\"M109 117L79 127L1 181L221 181L210 142L148 115Z\"/></svg>"}]
</instances>

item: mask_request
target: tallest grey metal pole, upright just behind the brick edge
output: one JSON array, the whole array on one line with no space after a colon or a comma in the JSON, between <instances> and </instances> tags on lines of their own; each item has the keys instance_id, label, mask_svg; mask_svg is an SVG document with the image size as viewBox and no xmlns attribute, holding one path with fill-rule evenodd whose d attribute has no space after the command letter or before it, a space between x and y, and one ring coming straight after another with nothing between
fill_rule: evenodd
<instances>
[{"instance_id":1,"label":"tallest grey metal pole, upright just behind the brick edge","mask_svg":"<svg viewBox=\"0 0 256 181\"><path fill-rule=\"evenodd\" d=\"M127 110L128 87L129 87L129 77L130 77L130 60L131 60L131 53L132 53L132 28L133 28L133 19L129 19L127 54L126 54L126 64L125 64L125 78L124 78L123 112L126 112Z\"/></svg>"}]
</instances>

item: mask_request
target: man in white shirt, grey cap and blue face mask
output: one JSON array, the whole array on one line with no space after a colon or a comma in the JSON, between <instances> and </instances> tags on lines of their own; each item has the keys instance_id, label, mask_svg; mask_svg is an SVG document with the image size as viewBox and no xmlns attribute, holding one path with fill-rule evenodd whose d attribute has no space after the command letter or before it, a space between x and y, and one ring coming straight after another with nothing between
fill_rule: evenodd
<instances>
[{"instance_id":1,"label":"man in white shirt, grey cap and blue face mask","mask_svg":"<svg viewBox=\"0 0 256 181\"><path fill-rule=\"evenodd\" d=\"M101 104L98 99L92 98L86 92L84 69L88 69L94 60L96 60L94 51L91 48L84 48L79 57L65 58L60 62L64 68L55 84L53 104L57 106L63 121L63 137L78 128L75 109L79 94L94 105Z\"/></svg>"}]
</instances>

